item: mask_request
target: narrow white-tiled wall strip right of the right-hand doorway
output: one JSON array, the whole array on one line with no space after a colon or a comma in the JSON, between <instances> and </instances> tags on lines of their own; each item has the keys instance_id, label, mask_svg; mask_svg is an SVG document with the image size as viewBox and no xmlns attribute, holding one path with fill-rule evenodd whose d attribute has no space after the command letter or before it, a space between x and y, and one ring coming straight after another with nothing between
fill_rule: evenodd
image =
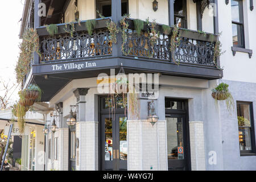
<instances>
[{"instance_id":1,"label":"narrow white-tiled wall strip right of the right-hand doorway","mask_svg":"<svg viewBox=\"0 0 256 182\"><path fill-rule=\"evenodd\" d=\"M204 123L189 122L192 171L205 171Z\"/></svg>"}]
</instances>

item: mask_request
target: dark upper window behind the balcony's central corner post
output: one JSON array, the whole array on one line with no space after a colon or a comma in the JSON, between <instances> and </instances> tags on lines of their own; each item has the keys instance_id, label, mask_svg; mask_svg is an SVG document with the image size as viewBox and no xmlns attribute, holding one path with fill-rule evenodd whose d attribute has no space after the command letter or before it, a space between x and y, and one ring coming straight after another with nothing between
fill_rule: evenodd
<instances>
[{"instance_id":1,"label":"dark upper window behind the balcony's central corner post","mask_svg":"<svg viewBox=\"0 0 256 182\"><path fill-rule=\"evenodd\" d=\"M111 0L97 0L97 10L105 17L110 17L111 13ZM121 11L122 16L128 14L128 0L121 1ZM97 18L100 18L100 15L97 14Z\"/></svg>"}]
</instances>

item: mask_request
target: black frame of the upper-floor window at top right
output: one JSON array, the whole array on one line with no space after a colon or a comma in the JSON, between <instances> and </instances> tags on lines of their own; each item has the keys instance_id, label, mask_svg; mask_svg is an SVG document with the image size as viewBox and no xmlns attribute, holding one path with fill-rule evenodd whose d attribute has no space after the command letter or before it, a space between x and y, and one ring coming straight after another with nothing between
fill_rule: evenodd
<instances>
[{"instance_id":1,"label":"black frame of the upper-floor window at top right","mask_svg":"<svg viewBox=\"0 0 256 182\"><path fill-rule=\"evenodd\" d=\"M240 28L237 28L238 45L233 43L233 47L245 48L245 26L244 26L245 22L243 19L243 0L232 0L232 1L238 2L238 11L239 11L239 18L240 18L239 22L232 20L232 26L233 24L236 24L237 27L238 26L240 27ZM232 36L232 42L233 42L233 36Z\"/></svg>"}]
</instances>

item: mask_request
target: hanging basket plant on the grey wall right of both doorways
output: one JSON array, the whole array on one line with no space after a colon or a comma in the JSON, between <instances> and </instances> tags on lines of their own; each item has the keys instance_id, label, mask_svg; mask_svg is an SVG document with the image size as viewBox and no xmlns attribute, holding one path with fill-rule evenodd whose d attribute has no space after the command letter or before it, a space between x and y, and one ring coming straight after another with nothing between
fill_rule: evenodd
<instances>
[{"instance_id":1,"label":"hanging basket plant on the grey wall right of both doorways","mask_svg":"<svg viewBox=\"0 0 256 182\"><path fill-rule=\"evenodd\" d=\"M226 107L228 110L234 109L234 100L232 94L228 89L229 85L225 83L221 83L217 85L214 89L212 89L212 97L216 101L226 101Z\"/></svg>"}]
</instances>

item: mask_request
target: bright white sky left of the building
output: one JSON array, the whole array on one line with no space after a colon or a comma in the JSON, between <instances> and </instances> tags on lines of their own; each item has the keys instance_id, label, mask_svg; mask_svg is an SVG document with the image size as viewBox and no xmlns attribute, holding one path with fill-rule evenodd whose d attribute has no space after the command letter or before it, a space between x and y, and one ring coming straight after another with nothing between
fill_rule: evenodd
<instances>
[{"instance_id":1,"label":"bright white sky left of the building","mask_svg":"<svg viewBox=\"0 0 256 182\"><path fill-rule=\"evenodd\" d=\"M16 84L15 65L19 56L19 30L22 18L24 0L1 1L0 5L0 78L11 80ZM2 90L2 88L0 88ZM18 90L13 95L13 100L18 98ZM0 91L0 95L3 92Z\"/></svg>"}]
</instances>

